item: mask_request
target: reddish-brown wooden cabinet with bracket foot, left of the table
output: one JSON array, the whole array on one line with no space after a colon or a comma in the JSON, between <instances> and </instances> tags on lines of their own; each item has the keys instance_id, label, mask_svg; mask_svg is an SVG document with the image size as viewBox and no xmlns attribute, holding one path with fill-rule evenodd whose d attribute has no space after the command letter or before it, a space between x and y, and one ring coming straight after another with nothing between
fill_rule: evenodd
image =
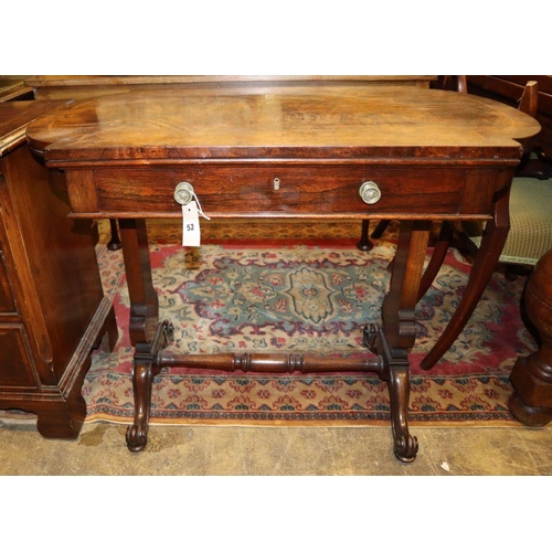
<instances>
[{"instance_id":1,"label":"reddish-brown wooden cabinet with bracket foot, left of the table","mask_svg":"<svg viewBox=\"0 0 552 552\"><path fill-rule=\"evenodd\" d=\"M33 412L42 435L74 438L91 352L107 330L114 344L117 329L95 226L67 217L26 146L26 125L60 104L0 104L0 410Z\"/></svg>"}]
</instances>

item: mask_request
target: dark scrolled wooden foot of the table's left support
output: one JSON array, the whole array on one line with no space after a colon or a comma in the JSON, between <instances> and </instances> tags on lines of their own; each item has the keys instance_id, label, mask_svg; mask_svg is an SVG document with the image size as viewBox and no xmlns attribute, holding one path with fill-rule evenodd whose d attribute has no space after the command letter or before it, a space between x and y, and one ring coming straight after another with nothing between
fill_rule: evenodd
<instances>
[{"instance_id":1,"label":"dark scrolled wooden foot of the table's left support","mask_svg":"<svg viewBox=\"0 0 552 552\"><path fill-rule=\"evenodd\" d=\"M153 378L160 372L159 352L172 341L172 325L163 320L157 328L151 344L136 346L135 365L132 370L132 390L135 396L135 422L128 427L126 439L131 453L139 453L148 443L149 414L151 411L151 385Z\"/></svg>"}]
</instances>

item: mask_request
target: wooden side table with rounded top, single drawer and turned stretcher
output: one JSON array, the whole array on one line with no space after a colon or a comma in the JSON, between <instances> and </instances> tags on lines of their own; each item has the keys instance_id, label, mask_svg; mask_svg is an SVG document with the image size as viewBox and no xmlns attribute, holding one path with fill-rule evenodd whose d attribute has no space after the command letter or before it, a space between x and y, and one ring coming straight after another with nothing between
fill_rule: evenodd
<instances>
[{"instance_id":1,"label":"wooden side table with rounded top, single drawer and turned stretcher","mask_svg":"<svg viewBox=\"0 0 552 552\"><path fill-rule=\"evenodd\" d=\"M29 145L66 188L72 216L119 219L135 346L129 449L147 444L153 379L162 368L359 371L378 373L388 383L394 453L412 461L417 442L407 427L408 350L431 223L487 221L466 293L443 332L446 339L435 346L435 361L492 274L509 229L512 174L539 129L534 119L508 106L415 86L347 95L136 91L75 102L34 121ZM167 350L172 325L159 320L145 223L180 220L195 201L208 216L221 219L400 220L382 325L365 327L368 351L336 359Z\"/></svg>"}]
</instances>

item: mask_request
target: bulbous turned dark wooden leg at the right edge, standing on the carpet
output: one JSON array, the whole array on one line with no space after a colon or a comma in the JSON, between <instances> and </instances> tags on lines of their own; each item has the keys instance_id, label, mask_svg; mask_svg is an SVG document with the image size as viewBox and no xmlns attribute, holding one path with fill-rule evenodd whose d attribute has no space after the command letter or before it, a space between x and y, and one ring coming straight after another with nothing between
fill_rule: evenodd
<instances>
[{"instance_id":1,"label":"bulbous turned dark wooden leg at the right edge, standing on the carpet","mask_svg":"<svg viewBox=\"0 0 552 552\"><path fill-rule=\"evenodd\" d=\"M539 427L552 422L552 250L529 278L526 309L542 343L538 351L516 361L510 375L516 391L508 406L517 420Z\"/></svg>"}]
</instances>

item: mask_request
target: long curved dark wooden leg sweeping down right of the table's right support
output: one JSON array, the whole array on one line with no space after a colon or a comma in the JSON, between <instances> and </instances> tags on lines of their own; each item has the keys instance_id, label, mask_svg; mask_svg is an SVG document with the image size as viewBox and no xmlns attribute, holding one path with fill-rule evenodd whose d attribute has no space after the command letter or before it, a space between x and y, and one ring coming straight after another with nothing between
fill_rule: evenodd
<instances>
[{"instance_id":1,"label":"long curved dark wooden leg sweeping down right of the table's right support","mask_svg":"<svg viewBox=\"0 0 552 552\"><path fill-rule=\"evenodd\" d=\"M459 336L469 317L481 298L487 284L497 266L510 230L508 194L502 195L495 205L495 217L487 223L481 245L477 252L468 285L460 302L439 339L421 363L421 368L429 370L445 354Z\"/></svg>"}]
</instances>

